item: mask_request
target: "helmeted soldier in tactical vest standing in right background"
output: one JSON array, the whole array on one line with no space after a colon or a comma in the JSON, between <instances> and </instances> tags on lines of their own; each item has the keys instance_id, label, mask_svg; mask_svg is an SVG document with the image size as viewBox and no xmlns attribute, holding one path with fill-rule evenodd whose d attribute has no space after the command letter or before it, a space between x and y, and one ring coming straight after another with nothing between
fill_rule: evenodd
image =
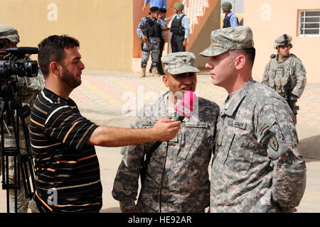
<instances>
[{"instance_id":1,"label":"helmeted soldier in tactical vest standing in right background","mask_svg":"<svg viewBox=\"0 0 320 227\"><path fill-rule=\"evenodd\" d=\"M262 84L265 84L282 97L285 96L285 86L290 84L290 98L297 101L306 87L306 70L304 65L296 55L290 54L292 48L292 38L287 35L281 35L274 40L274 48L277 49L277 55L270 56L270 62L265 67Z\"/></svg>"}]
</instances>

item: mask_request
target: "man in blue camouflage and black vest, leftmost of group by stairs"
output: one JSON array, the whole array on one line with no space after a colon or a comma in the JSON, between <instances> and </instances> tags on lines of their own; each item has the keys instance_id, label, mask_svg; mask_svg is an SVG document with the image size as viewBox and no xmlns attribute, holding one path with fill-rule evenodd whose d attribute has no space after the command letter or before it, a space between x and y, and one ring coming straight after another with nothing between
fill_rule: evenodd
<instances>
[{"instance_id":1,"label":"man in blue camouflage and black vest, leftmost of group by stairs","mask_svg":"<svg viewBox=\"0 0 320 227\"><path fill-rule=\"evenodd\" d=\"M137 33L139 38L142 40L142 73L140 77L146 76L146 63L149 60L149 55L151 52L151 67L152 76L159 77L160 75L156 73L157 65L159 62L159 48L161 31L166 28L166 23L162 22L157 18L158 7L154 6L150 8L150 14L141 19L139 26L137 28Z\"/></svg>"}]
</instances>

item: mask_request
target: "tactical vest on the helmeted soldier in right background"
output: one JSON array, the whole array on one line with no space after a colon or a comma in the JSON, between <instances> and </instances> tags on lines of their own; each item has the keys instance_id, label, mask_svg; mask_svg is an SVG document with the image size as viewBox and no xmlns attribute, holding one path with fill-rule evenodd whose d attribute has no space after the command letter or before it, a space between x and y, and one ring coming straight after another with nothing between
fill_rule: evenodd
<instances>
[{"instance_id":1,"label":"tactical vest on the helmeted soldier in right background","mask_svg":"<svg viewBox=\"0 0 320 227\"><path fill-rule=\"evenodd\" d=\"M294 72L294 58L296 56L290 54L287 60L279 63L277 57L270 60L267 67L267 82L269 87L284 96L284 85L287 84L289 77L291 77L291 91L297 84L297 76Z\"/></svg>"}]
</instances>

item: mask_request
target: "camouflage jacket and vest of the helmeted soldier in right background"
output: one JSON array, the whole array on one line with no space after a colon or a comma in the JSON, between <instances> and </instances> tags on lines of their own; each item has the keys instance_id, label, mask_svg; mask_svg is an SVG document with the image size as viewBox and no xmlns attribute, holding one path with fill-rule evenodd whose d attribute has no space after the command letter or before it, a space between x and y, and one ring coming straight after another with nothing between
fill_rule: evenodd
<instances>
[{"instance_id":1,"label":"camouflage jacket and vest of the helmeted soldier in right background","mask_svg":"<svg viewBox=\"0 0 320 227\"><path fill-rule=\"evenodd\" d=\"M262 84L271 87L284 97L284 86L287 84L289 77L291 78L291 93L300 98L304 92L304 87L306 87L304 65L296 55L290 54L284 60L280 60L277 55L267 63Z\"/></svg>"}]
</instances>

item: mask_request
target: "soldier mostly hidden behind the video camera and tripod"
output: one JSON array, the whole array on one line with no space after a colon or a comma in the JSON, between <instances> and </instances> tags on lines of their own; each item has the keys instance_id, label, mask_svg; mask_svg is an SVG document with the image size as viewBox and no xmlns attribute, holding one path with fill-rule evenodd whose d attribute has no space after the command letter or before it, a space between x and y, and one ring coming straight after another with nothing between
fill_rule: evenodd
<instances>
[{"instance_id":1,"label":"soldier mostly hidden behind the video camera and tripod","mask_svg":"<svg viewBox=\"0 0 320 227\"><path fill-rule=\"evenodd\" d=\"M18 31L11 26L1 24L0 25L0 51L5 50L6 48L16 47L16 44L19 43L20 38ZM0 60L4 59L4 55L0 56ZM45 86L45 81L43 75L38 75L37 77L18 77L18 92L15 94L15 99L21 101L22 106L28 104L32 108L33 103L36 99L37 94ZM27 126L30 123L30 116L25 118ZM12 134L9 136L9 133L4 129L4 147L16 147L16 140L14 138L14 131L12 126L9 126L9 131ZM21 148L21 153L26 152L26 144L24 143L24 135L22 125L19 127L19 145ZM1 156L0 156L1 160ZM1 165L4 165L0 161L0 173ZM21 175L20 175L21 177ZM10 183L14 183L14 158L9 157L9 180ZM29 199L25 198L25 192L23 183L20 183L21 187L17 190L18 200L17 207L18 213L25 213L28 208ZM10 194L10 212L14 212L14 189L9 190Z\"/></svg>"}]
</instances>

